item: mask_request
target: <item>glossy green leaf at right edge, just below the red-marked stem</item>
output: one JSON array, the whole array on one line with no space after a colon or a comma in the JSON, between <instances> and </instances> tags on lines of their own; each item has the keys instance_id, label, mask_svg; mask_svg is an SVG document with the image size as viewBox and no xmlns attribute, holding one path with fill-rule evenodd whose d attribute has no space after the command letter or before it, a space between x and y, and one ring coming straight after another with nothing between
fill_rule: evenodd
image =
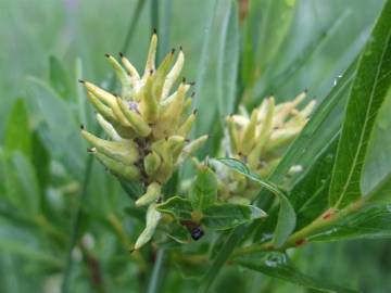
<instances>
[{"instance_id":1,"label":"glossy green leaf at right edge, just below the red-marked stem","mask_svg":"<svg viewBox=\"0 0 391 293\"><path fill-rule=\"evenodd\" d=\"M391 238L391 205L369 205L343 217L315 234L308 241L341 241L351 239Z\"/></svg>"}]
</instances>

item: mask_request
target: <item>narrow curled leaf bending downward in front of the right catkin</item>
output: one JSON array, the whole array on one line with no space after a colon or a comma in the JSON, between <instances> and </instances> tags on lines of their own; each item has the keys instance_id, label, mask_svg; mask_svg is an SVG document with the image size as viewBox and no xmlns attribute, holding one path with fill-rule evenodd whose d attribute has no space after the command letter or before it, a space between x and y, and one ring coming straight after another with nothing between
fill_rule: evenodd
<instances>
[{"instance_id":1,"label":"narrow curled leaf bending downward in front of the right catkin","mask_svg":"<svg viewBox=\"0 0 391 293\"><path fill-rule=\"evenodd\" d=\"M295 213L289 200L283 194L283 191L276 187L274 183L262 179L256 174L251 173L249 168L238 160L219 158L218 161L228 166L229 168L257 182L261 187L264 187L267 190L272 191L278 198L280 207L278 212L278 220L274 232L273 242L276 247L282 246L282 244L295 227Z\"/></svg>"}]
</instances>

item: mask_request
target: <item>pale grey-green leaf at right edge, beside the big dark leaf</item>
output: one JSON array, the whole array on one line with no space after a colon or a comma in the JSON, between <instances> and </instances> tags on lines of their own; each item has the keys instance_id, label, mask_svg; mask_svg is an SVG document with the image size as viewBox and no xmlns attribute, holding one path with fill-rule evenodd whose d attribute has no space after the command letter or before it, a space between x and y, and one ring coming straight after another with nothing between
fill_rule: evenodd
<instances>
[{"instance_id":1,"label":"pale grey-green leaf at right edge, beside the big dark leaf","mask_svg":"<svg viewBox=\"0 0 391 293\"><path fill-rule=\"evenodd\" d=\"M391 87L379 110L364 163L361 189L364 196L378 190L391 179ZM376 196L376 195L375 195Z\"/></svg>"}]
</instances>

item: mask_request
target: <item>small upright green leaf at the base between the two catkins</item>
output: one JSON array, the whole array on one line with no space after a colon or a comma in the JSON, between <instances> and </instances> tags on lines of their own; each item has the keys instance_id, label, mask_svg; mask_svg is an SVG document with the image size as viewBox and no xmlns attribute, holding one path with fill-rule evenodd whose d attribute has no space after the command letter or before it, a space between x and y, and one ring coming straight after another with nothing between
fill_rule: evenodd
<instances>
[{"instance_id":1,"label":"small upright green leaf at the base between the two catkins","mask_svg":"<svg viewBox=\"0 0 391 293\"><path fill-rule=\"evenodd\" d=\"M194 211L203 211L217 200L217 178L207 166L199 167L189 200Z\"/></svg>"}]
</instances>

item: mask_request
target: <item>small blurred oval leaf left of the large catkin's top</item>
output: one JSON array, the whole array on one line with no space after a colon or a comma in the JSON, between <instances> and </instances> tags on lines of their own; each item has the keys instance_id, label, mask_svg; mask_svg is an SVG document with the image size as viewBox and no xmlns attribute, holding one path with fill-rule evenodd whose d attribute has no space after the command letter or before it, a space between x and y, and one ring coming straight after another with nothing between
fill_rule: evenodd
<instances>
[{"instance_id":1,"label":"small blurred oval leaf left of the large catkin's top","mask_svg":"<svg viewBox=\"0 0 391 293\"><path fill-rule=\"evenodd\" d=\"M61 64L60 60L55 56L49 58L49 79L50 85L63 99L68 99L71 95L71 81Z\"/></svg>"}]
</instances>

